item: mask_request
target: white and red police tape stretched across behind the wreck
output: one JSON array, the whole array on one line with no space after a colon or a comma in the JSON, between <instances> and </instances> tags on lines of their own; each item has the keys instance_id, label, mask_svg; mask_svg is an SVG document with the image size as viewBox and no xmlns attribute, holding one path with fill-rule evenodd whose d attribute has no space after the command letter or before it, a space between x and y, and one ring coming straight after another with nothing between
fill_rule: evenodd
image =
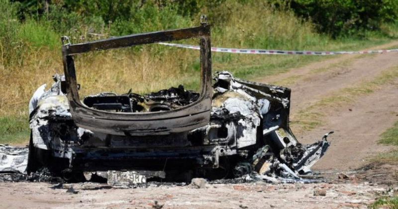
<instances>
[{"instance_id":1,"label":"white and red police tape stretched across behind the wreck","mask_svg":"<svg viewBox=\"0 0 398 209\"><path fill-rule=\"evenodd\" d=\"M173 44L160 42L158 44L166 46L174 46L187 49L200 49L199 46L186 45L186 44ZM287 50L269 50L269 49L234 49L234 48L219 48L211 47L213 52L226 52L226 53L236 53L236 54L282 54L282 55L339 55L339 54L375 54L375 53L385 53L385 52L398 52L398 49L383 49L383 50L366 50L366 51L287 51Z\"/></svg>"}]
</instances>

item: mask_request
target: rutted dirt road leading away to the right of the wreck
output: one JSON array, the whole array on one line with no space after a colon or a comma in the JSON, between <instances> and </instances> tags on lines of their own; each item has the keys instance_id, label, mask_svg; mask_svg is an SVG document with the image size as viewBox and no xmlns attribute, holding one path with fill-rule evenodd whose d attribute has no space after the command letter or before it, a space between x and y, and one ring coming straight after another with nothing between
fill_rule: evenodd
<instances>
[{"instance_id":1,"label":"rutted dirt road leading away to the right of the wreck","mask_svg":"<svg viewBox=\"0 0 398 209\"><path fill-rule=\"evenodd\" d=\"M394 47L398 41L377 48ZM312 63L270 78L266 83L286 83L292 89L291 119L298 111L322 100L331 93L371 81L382 71L398 66L397 53L350 55ZM342 92L344 93L344 92ZM331 147L313 167L315 170L351 170L364 166L366 159L389 147L377 144L379 136L398 120L398 80L383 89L359 98L337 111L325 109L323 125L297 135L302 143L311 143L330 130ZM337 102L337 101L336 101ZM295 132L295 126L292 126Z\"/></svg>"}]
</instances>

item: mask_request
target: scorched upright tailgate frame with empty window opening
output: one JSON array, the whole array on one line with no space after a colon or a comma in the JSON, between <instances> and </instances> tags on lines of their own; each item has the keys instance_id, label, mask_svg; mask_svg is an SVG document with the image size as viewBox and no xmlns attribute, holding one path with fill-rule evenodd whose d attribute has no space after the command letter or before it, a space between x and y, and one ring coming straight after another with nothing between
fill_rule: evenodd
<instances>
[{"instance_id":1,"label":"scorched upright tailgate frame with empty window opening","mask_svg":"<svg viewBox=\"0 0 398 209\"><path fill-rule=\"evenodd\" d=\"M96 50L129 47L163 41L199 38L201 93L198 101L170 111L161 112L109 112L90 108L79 98L73 56ZM67 40L65 37L62 39ZM69 41L69 40L68 40ZM206 125L211 109L211 46L210 25L127 35L80 44L63 44L67 98L76 125L117 135L163 135L190 131Z\"/></svg>"}]
</instances>

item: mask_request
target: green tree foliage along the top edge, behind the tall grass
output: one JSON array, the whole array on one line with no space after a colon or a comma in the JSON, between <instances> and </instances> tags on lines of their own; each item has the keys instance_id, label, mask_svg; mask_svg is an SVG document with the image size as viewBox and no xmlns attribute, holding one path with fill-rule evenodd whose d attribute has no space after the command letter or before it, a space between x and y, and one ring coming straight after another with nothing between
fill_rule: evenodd
<instances>
[{"instance_id":1,"label":"green tree foliage along the top edge, behind the tall grass","mask_svg":"<svg viewBox=\"0 0 398 209\"><path fill-rule=\"evenodd\" d=\"M172 21L192 20L198 18L199 12L203 11L212 20L225 22L230 13L228 6L222 6L228 4L226 0L11 1L18 8L20 20L46 18L58 26L55 30L62 32L82 30L76 25L86 25L88 30L99 31L111 23L116 23L112 28L114 35L145 30L137 25L148 23L156 26L156 21L176 26L178 24ZM242 5L264 3L260 0L236 1ZM382 23L396 21L398 18L398 0L266 0L266 2L276 8L293 10L296 15L313 21L319 32L332 37L352 36L363 34L367 30L378 30ZM216 23L218 22L220 21Z\"/></svg>"}]
</instances>

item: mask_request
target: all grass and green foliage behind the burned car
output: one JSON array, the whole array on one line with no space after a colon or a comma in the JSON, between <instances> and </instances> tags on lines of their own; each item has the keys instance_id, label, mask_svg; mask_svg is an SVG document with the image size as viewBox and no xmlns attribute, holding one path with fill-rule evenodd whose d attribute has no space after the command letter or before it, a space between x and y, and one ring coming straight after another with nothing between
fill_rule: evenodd
<instances>
[{"instance_id":1,"label":"all grass and green foliage behind the burned car","mask_svg":"<svg viewBox=\"0 0 398 209\"><path fill-rule=\"evenodd\" d=\"M0 143L29 137L28 102L63 73L62 35L72 43L190 27L200 14L212 45L285 50L357 50L398 36L398 0L0 0ZM197 44L196 40L182 43ZM244 79L327 57L213 53L213 70ZM145 93L199 86L199 52L157 44L76 57L82 94Z\"/></svg>"}]
</instances>

